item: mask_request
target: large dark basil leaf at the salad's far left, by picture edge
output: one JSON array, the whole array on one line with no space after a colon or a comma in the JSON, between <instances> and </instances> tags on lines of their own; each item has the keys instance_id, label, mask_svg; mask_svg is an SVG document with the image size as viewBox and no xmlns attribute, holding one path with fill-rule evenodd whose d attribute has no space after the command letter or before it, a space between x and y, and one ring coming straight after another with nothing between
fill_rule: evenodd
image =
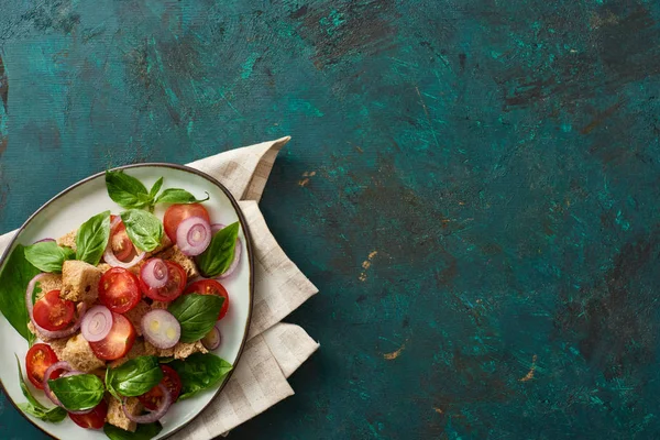
<instances>
[{"instance_id":1,"label":"large dark basil leaf at the salad's far left, by picture edge","mask_svg":"<svg viewBox=\"0 0 660 440\"><path fill-rule=\"evenodd\" d=\"M0 311L9 323L32 343L35 336L28 330L30 317L25 307L25 289L30 280L41 271L25 260L24 250L22 245L16 245L0 272Z\"/></svg>"}]
</instances>

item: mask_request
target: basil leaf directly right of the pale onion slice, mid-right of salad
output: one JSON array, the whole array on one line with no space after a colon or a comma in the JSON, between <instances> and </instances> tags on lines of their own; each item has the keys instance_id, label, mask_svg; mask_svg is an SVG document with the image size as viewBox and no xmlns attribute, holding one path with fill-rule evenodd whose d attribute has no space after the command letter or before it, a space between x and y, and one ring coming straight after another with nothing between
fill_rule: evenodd
<instances>
[{"instance_id":1,"label":"basil leaf directly right of the pale onion slice, mid-right of salad","mask_svg":"<svg viewBox=\"0 0 660 440\"><path fill-rule=\"evenodd\" d=\"M182 324L182 342L195 342L204 338L218 321L224 298L217 295L183 295L176 298L169 311Z\"/></svg>"}]
</instances>

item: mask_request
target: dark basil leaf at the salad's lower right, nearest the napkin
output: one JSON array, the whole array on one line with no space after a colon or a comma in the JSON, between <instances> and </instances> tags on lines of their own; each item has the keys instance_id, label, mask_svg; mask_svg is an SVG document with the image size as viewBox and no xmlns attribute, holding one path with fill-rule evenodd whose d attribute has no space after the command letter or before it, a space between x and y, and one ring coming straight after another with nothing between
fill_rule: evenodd
<instances>
[{"instance_id":1,"label":"dark basil leaf at the salad's lower right, nearest the napkin","mask_svg":"<svg viewBox=\"0 0 660 440\"><path fill-rule=\"evenodd\" d=\"M213 353L195 353L185 361L172 362L169 366L182 380L182 400L220 384L232 369L229 362Z\"/></svg>"}]
</instances>

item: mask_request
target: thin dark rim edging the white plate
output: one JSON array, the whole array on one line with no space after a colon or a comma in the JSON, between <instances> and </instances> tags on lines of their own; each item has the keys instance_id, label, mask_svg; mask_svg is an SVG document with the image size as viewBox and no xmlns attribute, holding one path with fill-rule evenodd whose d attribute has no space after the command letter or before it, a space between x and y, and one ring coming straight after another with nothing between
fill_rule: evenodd
<instances>
[{"instance_id":1,"label":"thin dark rim edging the white plate","mask_svg":"<svg viewBox=\"0 0 660 440\"><path fill-rule=\"evenodd\" d=\"M229 380L231 378L231 376L233 375L233 373L237 371L237 366L239 365L239 362L241 361L241 358L242 358L242 354L243 354L243 350L245 349L245 344L248 343L248 334L250 332L250 323L252 322L252 309L253 309L253 305L254 305L254 250L252 248L252 235L250 234L250 230L248 228L248 221L245 220L245 216L243 215L243 211L241 211L241 208L239 206L238 200L229 191L229 189L227 189L227 187L222 183L220 183L217 178L215 178L213 176L208 175L205 172L201 172L199 169L193 168L190 166L180 165L180 164L173 164L173 163L168 163L168 162L143 162L143 163L138 163L138 164L122 165L122 166L109 168L108 170L122 170L122 169L142 168L142 167L174 168L174 169L178 169L178 170L182 170L182 172L191 173L191 174L195 174L197 176L200 176L200 177L209 180L211 184L213 184L218 188L220 188L222 190L222 193L224 193L224 195L229 198L229 201L231 202L232 207L237 211L237 215L239 217L239 222L241 223L241 228L243 229L243 234L245 235L245 246L248 248L248 263L249 263L248 264L248 268L250 271L250 275L249 275L249 277L250 277L250 283L249 283L250 300L249 300L249 304L250 304L250 306L249 306L249 309L248 309L248 320L245 321L245 328L243 329L243 340L241 341L241 346L239 348L239 353L237 354L237 360L234 361L231 371L227 374L227 376L224 377L224 380L222 381L222 383L220 384L220 386L218 387L218 389L216 391L216 393L213 394L213 396L209 399L209 402L190 420L188 420L185 424L180 425L179 427L177 427L176 429L174 429L172 432L169 432L167 436L162 437L162 439L168 439L168 438L172 438L175 433L177 433L182 429L184 429L185 427L187 427L188 425L190 425L199 416L201 416L201 414L209 407L209 405L211 405L211 403L218 397L218 395L222 392L222 389L224 389L224 386L227 385L227 383L229 382ZM21 227L16 230L14 237L11 239L11 241L7 245L7 249L4 250L4 252L2 253L2 255L0 256L0 270L3 267L4 262L9 257L9 255L11 253L11 250L14 246L14 244L15 244L19 235L21 234L21 232L23 232L23 230L28 227L28 224L30 224L30 222L32 220L34 220L34 218L36 216L38 216L38 213L41 213L41 211L43 211L48 205L51 205L52 202L54 202L58 198L65 196L66 194L68 194L73 189L75 189L75 188L77 188L77 187L79 187L81 185L85 185L85 184L87 184L90 180L94 180L96 178L102 177L105 175L106 175L106 170L102 170L100 173L92 174L91 176L88 176L88 177L84 178L82 180L78 180L77 183L70 185L69 187L65 188L61 193L58 193L55 196L53 196L48 201L46 201L45 204L43 204L36 211L34 211L28 218L28 220L25 220L23 222L23 224L21 224ZM2 383L1 378L0 378L0 391L4 394L4 396L7 397L7 399L9 400L9 403L11 404L11 406L25 420L28 420L33 427L35 427L41 432L45 433L46 436L48 436L48 437L51 437L51 438L53 438L55 440L63 440L63 439L59 439L59 438L55 437L51 432L46 431L45 429L43 429L38 425L36 425L30 417L28 417L28 415L25 413L23 413L21 410L21 408L19 408L18 404L11 398L11 396L9 395L9 393L7 393L7 389L6 389L4 384ZM81 429L84 429L84 428L81 428Z\"/></svg>"}]
</instances>

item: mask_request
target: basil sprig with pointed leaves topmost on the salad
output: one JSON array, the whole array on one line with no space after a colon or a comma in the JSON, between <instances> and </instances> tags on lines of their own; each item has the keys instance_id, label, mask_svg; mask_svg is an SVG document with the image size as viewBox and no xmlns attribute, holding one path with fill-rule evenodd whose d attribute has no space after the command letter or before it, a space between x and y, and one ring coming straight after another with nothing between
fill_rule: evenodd
<instances>
[{"instance_id":1,"label":"basil sprig with pointed leaves topmost on the salad","mask_svg":"<svg viewBox=\"0 0 660 440\"><path fill-rule=\"evenodd\" d=\"M198 200L190 193L180 188L165 189L160 196L158 191L163 187L163 177L161 177L151 190L135 177L129 176L123 170L106 172L106 186L108 196L120 207L124 209L146 209L154 210L156 204L196 204L209 199Z\"/></svg>"}]
</instances>

